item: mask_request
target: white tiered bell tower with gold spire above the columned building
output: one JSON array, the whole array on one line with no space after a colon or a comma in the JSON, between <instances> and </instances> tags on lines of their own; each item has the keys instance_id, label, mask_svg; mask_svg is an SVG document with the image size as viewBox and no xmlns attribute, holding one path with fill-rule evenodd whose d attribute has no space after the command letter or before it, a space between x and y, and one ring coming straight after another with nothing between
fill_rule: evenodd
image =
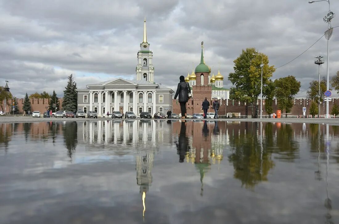
<instances>
[{"instance_id":1,"label":"white tiered bell tower with gold spire above the columned building","mask_svg":"<svg viewBox=\"0 0 339 224\"><path fill-rule=\"evenodd\" d=\"M135 69L137 80L145 80L153 82L154 67L153 67L153 52L149 50L149 43L147 42L146 34L146 17L144 20L144 36L142 43L140 44L140 50L138 51L137 58L138 64Z\"/></svg>"}]
</instances>

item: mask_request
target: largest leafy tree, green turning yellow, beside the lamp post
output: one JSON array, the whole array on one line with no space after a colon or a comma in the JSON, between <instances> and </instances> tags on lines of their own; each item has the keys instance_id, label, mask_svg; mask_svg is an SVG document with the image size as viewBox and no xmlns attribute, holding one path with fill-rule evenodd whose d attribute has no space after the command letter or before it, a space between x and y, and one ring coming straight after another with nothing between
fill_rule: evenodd
<instances>
[{"instance_id":1,"label":"largest leafy tree, green turning yellow, beside the lamp post","mask_svg":"<svg viewBox=\"0 0 339 224\"><path fill-rule=\"evenodd\" d=\"M246 104L256 102L261 90L261 57L253 55L254 53L256 53L255 48L242 50L239 57L233 61L234 72L228 75L228 80L235 85L235 87L231 88L231 96L235 100L245 101ZM276 69L274 66L268 66L267 55L262 53L257 54L262 55L264 64L262 83L266 85ZM253 112L252 110L252 116L256 116L257 113Z\"/></svg>"}]
</instances>

